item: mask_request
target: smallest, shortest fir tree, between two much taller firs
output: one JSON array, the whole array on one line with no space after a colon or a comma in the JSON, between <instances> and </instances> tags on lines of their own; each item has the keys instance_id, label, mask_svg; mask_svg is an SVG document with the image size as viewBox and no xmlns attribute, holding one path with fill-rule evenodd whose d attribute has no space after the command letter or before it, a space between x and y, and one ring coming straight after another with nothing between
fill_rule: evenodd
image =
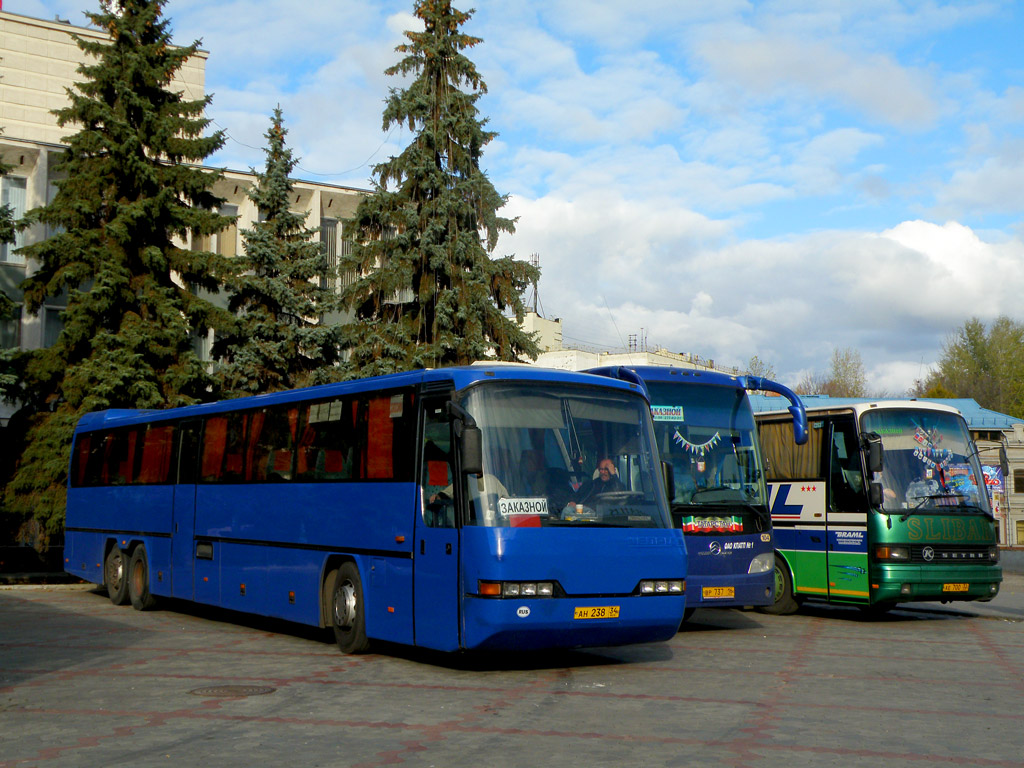
<instances>
[{"instance_id":1,"label":"smallest, shortest fir tree, between two much taller firs","mask_svg":"<svg viewBox=\"0 0 1024 768\"><path fill-rule=\"evenodd\" d=\"M228 395L255 394L317 384L338 377L336 326L324 322L334 294L323 287L328 261L317 230L289 210L297 160L285 145L281 108L266 132L266 168L253 169L249 199L261 221L242 232L244 255L227 281L229 330L213 346L216 375Z\"/></svg>"}]
</instances>

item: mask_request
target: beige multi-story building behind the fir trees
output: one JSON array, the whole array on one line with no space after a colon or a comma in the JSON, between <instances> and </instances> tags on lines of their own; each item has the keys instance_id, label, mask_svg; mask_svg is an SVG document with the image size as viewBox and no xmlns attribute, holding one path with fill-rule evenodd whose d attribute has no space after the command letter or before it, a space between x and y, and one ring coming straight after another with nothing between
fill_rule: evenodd
<instances>
[{"instance_id":1,"label":"beige multi-story building behind the fir trees","mask_svg":"<svg viewBox=\"0 0 1024 768\"><path fill-rule=\"evenodd\" d=\"M46 205L55 191L58 176L53 166L65 148L63 137L75 129L58 126L53 111L68 104L66 89L81 78L78 67L87 60L76 37L102 41L106 34L59 18L32 18L0 7L0 160L12 167L0 179L0 201L13 209L15 218ZM206 51L199 51L179 71L175 84L184 98L205 95L208 56ZM183 245L225 255L239 253L241 230L258 220L256 206L248 197L254 183L255 176L250 172L224 171L213 193L223 200L220 212L237 215L237 223L209 241ZM307 226L319 227L329 258L336 259L342 248L342 221L352 216L367 191L296 180L293 194L292 210L306 215ZM48 234L37 224L18 232L14 244L0 246L0 290L15 302L23 298L18 286L35 269L17 249ZM12 321L0 322L0 348L38 349L51 345L62 328L65 306L63 298L52 297L38 314L23 311ZM10 413L9 406L0 403L0 425L6 423Z\"/></svg>"}]
</instances>

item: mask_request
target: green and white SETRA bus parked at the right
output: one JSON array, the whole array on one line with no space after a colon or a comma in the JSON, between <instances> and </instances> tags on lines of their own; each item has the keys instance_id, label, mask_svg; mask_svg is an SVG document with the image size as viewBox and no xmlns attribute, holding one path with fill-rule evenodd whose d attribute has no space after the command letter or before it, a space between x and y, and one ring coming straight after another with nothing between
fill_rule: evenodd
<instances>
[{"instance_id":1,"label":"green and white SETRA bus parked at the right","mask_svg":"<svg viewBox=\"0 0 1024 768\"><path fill-rule=\"evenodd\" d=\"M775 599L885 611L991 600L1002 571L978 451L958 411L919 400L757 415L775 530Z\"/></svg>"}]
</instances>

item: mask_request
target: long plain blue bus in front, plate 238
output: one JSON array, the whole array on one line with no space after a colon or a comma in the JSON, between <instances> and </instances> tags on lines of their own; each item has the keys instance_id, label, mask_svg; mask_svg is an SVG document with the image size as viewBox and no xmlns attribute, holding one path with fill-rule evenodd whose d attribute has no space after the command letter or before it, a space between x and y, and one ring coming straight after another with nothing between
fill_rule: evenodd
<instances>
[{"instance_id":1,"label":"long plain blue bus in front, plate 238","mask_svg":"<svg viewBox=\"0 0 1024 768\"><path fill-rule=\"evenodd\" d=\"M603 457L614 494L574 503ZM685 607L643 387L483 366L88 414L66 569L333 628L344 652L665 640Z\"/></svg>"}]
</instances>

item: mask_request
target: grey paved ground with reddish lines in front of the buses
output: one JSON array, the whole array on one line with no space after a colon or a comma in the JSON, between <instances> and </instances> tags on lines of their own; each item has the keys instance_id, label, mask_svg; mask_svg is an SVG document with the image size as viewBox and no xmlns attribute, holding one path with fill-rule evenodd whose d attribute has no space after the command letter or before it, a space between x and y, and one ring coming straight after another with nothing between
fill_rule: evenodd
<instances>
[{"instance_id":1,"label":"grey paved ground with reddish lines in front of the buses","mask_svg":"<svg viewBox=\"0 0 1024 768\"><path fill-rule=\"evenodd\" d=\"M383 650L84 587L2 589L0 767L1024 765L1013 573L987 605L876 621L702 610L664 644ZM248 689L200 690L222 686Z\"/></svg>"}]
</instances>

